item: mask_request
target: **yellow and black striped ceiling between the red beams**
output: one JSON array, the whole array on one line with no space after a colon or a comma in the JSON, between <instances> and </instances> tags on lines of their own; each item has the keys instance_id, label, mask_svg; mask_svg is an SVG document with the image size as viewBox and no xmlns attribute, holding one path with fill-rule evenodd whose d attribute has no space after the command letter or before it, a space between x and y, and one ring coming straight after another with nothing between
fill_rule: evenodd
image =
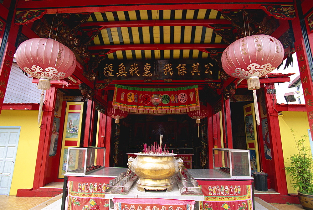
<instances>
[{"instance_id":1,"label":"yellow and black striped ceiling between the red beams","mask_svg":"<svg viewBox=\"0 0 313 210\"><path fill-rule=\"evenodd\" d=\"M150 20L216 20L224 19L217 10L143 10L95 12L90 15L83 30L95 29L98 23L110 21L141 21ZM95 23L98 22L98 23ZM151 22L150 22L151 23ZM125 25L123 25L125 26ZM126 25L127 26L127 25ZM223 26L224 27L224 26ZM231 24L225 26L231 28ZM216 35L212 28L205 26L131 26L110 27L101 29L88 48L92 56L104 54L108 50L92 50L94 46L106 45L158 45L158 44L224 44L222 37ZM219 51L223 51L220 49ZM105 55L107 60L145 60L145 59L206 59L209 54L196 49L171 50L117 50Z\"/></svg>"}]
</instances>

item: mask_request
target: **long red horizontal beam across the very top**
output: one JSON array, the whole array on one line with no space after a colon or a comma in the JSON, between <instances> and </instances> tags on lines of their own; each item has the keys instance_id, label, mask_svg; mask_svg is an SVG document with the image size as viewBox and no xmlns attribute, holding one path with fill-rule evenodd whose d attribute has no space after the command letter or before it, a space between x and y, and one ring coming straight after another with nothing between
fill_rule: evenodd
<instances>
[{"instance_id":1,"label":"long red horizontal beam across the very top","mask_svg":"<svg viewBox=\"0 0 313 210\"><path fill-rule=\"evenodd\" d=\"M47 9L48 14L55 13L93 13L93 12L112 12L112 11L130 11L130 10L169 10L169 9L259 9L261 5L290 5L291 0L272 0L250 1L250 0L198 0L190 2L189 0L117 0L104 4L103 0L48 0L48 1L19 1L17 10Z\"/></svg>"}]
</instances>

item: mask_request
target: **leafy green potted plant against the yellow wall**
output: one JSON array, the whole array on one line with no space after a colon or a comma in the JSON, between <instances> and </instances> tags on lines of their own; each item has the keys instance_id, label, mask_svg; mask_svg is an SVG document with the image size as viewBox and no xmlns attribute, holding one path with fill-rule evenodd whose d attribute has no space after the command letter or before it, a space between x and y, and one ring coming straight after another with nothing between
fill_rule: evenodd
<instances>
[{"instance_id":1,"label":"leafy green potted plant against the yellow wall","mask_svg":"<svg viewBox=\"0 0 313 210\"><path fill-rule=\"evenodd\" d=\"M292 187L298 188L300 204L307 210L313 210L313 159L310 146L305 145L307 135L296 139L294 129L291 129L298 153L291 155L288 160L290 167L285 167L292 179Z\"/></svg>"}]
</instances>

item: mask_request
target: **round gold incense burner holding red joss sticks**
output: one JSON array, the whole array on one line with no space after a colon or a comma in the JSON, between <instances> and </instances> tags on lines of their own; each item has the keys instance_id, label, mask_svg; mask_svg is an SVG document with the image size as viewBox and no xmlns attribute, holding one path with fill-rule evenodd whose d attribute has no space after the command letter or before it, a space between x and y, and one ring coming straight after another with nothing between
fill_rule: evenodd
<instances>
[{"instance_id":1,"label":"round gold incense burner holding red joss sticks","mask_svg":"<svg viewBox=\"0 0 313 210\"><path fill-rule=\"evenodd\" d=\"M146 190L173 190L173 181L171 177L178 173L182 168L182 159L176 157L173 153L167 154L146 154L135 153L136 158L128 159L128 167L138 177L137 190L145 192Z\"/></svg>"}]
</instances>

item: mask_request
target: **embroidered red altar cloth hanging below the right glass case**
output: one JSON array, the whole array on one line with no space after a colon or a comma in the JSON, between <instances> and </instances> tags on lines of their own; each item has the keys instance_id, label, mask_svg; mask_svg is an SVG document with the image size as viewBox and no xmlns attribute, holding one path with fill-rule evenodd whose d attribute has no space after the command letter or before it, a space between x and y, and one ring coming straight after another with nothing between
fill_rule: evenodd
<instances>
[{"instance_id":1,"label":"embroidered red altar cloth hanging below the right glass case","mask_svg":"<svg viewBox=\"0 0 313 210\"><path fill-rule=\"evenodd\" d=\"M199 209L238 209L252 210L251 181L203 181L204 201L199 202Z\"/></svg>"}]
</instances>

